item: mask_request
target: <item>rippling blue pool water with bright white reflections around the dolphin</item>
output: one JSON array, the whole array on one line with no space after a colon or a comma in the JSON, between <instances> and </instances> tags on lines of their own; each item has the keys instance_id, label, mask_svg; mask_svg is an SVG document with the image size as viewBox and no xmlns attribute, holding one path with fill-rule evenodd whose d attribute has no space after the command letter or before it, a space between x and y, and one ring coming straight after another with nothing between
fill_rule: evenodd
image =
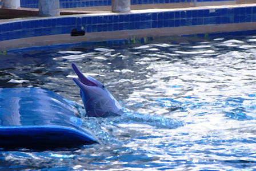
<instances>
[{"instance_id":1,"label":"rippling blue pool water with bright white reflections around the dolphin","mask_svg":"<svg viewBox=\"0 0 256 171\"><path fill-rule=\"evenodd\" d=\"M0 56L0 87L40 87L75 102L101 144L0 151L14 170L256 169L256 36L161 38ZM86 117L71 63L121 103L121 117Z\"/></svg>"}]
</instances>

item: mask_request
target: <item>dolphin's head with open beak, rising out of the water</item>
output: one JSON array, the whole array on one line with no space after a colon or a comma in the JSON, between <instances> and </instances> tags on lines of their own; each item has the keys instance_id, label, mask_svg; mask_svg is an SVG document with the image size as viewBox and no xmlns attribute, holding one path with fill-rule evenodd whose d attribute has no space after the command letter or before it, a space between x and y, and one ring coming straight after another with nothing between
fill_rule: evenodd
<instances>
[{"instance_id":1,"label":"dolphin's head with open beak, rising out of the water","mask_svg":"<svg viewBox=\"0 0 256 171\"><path fill-rule=\"evenodd\" d=\"M72 67L79 78L74 78L73 80L81 88L80 95L85 105L87 116L107 117L121 115L121 105L101 82L90 76L83 75L74 63Z\"/></svg>"}]
</instances>

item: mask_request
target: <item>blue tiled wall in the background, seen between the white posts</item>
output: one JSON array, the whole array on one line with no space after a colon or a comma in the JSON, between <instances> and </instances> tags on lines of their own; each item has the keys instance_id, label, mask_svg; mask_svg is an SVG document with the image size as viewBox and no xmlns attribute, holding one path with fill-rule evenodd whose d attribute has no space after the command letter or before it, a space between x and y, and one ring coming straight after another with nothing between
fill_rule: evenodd
<instances>
[{"instance_id":1,"label":"blue tiled wall in the background, seen between the white posts","mask_svg":"<svg viewBox=\"0 0 256 171\"><path fill-rule=\"evenodd\" d=\"M195 0L131 0L131 5L151 4L151 3L186 3ZM197 2L219 2L232 0L197 0ZM111 0L60 0L61 8L110 6ZM21 0L21 7L38 8L38 0Z\"/></svg>"}]
</instances>

